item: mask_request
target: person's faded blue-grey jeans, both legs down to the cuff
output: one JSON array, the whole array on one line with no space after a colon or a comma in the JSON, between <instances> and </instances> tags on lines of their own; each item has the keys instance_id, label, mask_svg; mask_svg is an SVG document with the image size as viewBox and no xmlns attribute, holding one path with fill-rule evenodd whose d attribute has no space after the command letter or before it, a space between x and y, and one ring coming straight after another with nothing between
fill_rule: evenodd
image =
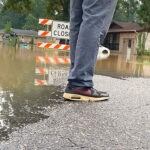
<instances>
[{"instance_id":1,"label":"person's faded blue-grey jeans, both legs down to the cuff","mask_svg":"<svg viewBox=\"0 0 150 150\"><path fill-rule=\"evenodd\" d=\"M98 47L104 40L118 0L71 0L68 81L93 87Z\"/></svg>"}]
</instances>

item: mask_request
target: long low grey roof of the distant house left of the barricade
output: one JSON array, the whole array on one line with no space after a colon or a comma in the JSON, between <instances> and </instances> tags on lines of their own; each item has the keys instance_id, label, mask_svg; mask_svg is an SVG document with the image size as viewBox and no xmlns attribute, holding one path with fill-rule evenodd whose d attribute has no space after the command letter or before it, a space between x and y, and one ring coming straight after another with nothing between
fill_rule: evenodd
<instances>
[{"instance_id":1,"label":"long low grey roof of the distant house left of the barricade","mask_svg":"<svg viewBox=\"0 0 150 150\"><path fill-rule=\"evenodd\" d=\"M12 29L17 35L26 35L26 36L38 36L38 33L33 30L21 30L21 29ZM4 33L4 30L1 29L0 33Z\"/></svg>"}]
</instances>

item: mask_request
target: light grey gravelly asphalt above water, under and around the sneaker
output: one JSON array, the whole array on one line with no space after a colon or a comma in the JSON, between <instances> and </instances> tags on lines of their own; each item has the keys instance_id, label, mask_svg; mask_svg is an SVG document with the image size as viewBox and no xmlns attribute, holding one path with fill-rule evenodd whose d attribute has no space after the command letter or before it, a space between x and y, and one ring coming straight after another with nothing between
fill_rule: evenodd
<instances>
[{"instance_id":1,"label":"light grey gravelly asphalt above water, under and around the sneaker","mask_svg":"<svg viewBox=\"0 0 150 150\"><path fill-rule=\"evenodd\" d=\"M150 79L95 76L108 102L62 101L48 119L10 134L0 150L150 150Z\"/></svg>"}]
</instances>

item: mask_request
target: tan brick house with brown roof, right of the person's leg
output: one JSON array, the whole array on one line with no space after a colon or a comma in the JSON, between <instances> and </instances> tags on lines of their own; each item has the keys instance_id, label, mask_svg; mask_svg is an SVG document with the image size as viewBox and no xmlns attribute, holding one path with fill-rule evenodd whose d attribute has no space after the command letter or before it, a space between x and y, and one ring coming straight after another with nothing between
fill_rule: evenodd
<instances>
[{"instance_id":1,"label":"tan brick house with brown roof, right of the person's leg","mask_svg":"<svg viewBox=\"0 0 150 150\"><path fill-rule=\"evenodd\" d=\"M114 21L110 25L103 45L112 51L127 54L128 44L130 43L131 54L137 54L138 35L140 33L145 33L145 30L135 23ZM147 34L145 48L150 49L150 34Z\"/></svg>"}]
</instances>

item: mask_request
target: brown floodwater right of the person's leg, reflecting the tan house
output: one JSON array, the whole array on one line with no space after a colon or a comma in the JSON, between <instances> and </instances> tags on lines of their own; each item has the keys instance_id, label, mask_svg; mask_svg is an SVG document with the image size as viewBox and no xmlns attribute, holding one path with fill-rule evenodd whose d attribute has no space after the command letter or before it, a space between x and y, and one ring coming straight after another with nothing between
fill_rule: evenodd
<instances>
[{"instance_id":1,"label":"brown floodwater right of the person's leg, reflecting the tan house","mask_svg":"<svg viewBox=\"0 0 150 150\"><path fill-rule=\"evenodd\" d=\"M150 57L112 54L109 59L98 60L96 74L113 77L150 77Z\"/></svg>"}]
</instances>

